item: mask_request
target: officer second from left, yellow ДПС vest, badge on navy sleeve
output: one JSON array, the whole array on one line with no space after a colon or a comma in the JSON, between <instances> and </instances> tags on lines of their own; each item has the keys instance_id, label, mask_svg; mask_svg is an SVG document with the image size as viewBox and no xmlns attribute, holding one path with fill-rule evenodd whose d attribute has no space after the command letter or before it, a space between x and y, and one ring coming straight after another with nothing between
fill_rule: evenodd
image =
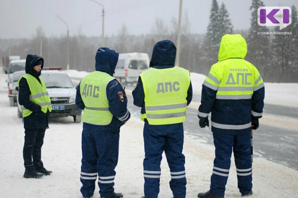
<instances>
[{"instance_id":1,"label":"officer second from left, yellow \u0414\u041f\u0421 vest, badge on navy sleeve","mask_svg":"<svg viewBox=\"0 0 298 198\"><path fill-rule=\"evenodd\" d=\"M83 112L80 192L93 196L98 176L101 198L122 198L114 192L115 167L118 162L120 127L130 118L127 98L121 84L113 77L119 53L99 48L95 70L78 85L75 103Z\"/></svg>"}]
</instances>

